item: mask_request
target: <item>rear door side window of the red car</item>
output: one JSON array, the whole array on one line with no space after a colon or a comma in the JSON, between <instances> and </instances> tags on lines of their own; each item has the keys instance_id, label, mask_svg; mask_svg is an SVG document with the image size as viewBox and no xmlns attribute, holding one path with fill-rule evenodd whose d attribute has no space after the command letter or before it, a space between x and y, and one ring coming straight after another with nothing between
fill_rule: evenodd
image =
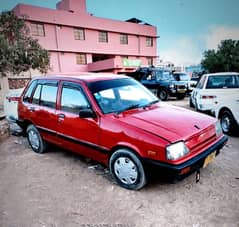
<instances>
[{"instance_id":1,"label":"rear door side window of the red car","mask_svg":"<svg viewBox=\"0 0 239 227\"><path fill-rule=\"evenodd\" d=\"M40 105L50 108L55 108L56 106L56 95L57 95L57 86L55 85L42 85Z\"/></svg>"}]
</instances>

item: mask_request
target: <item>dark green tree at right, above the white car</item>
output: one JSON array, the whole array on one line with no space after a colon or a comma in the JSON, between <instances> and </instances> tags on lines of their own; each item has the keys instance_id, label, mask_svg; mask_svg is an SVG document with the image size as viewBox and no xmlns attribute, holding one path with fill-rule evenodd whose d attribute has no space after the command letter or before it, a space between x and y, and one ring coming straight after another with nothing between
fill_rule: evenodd
<instances>
[{"instance_id":1,"label":"dark green tree at right, above the white car","mask_svg":"<svg viewBox=\"0 0 239 227\"><path fill-rule=\"evenodd\" d=\"M223 40L218 50L204 52L202 67L213 72L239 72L239 40Z\"/></svg>"}]
</instances>

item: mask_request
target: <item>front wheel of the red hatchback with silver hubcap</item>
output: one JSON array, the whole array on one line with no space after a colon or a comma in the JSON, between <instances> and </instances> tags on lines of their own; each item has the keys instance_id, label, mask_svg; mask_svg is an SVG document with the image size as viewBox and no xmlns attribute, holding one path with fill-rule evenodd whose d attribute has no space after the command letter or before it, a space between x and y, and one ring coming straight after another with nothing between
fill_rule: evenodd
<instances>
[{"instance_id":1,"label":"front wheel of the red hatchback with silver hubcap","mask_svg":"<svg viewBox=\"0 0 239 227\"><path fill-rule=\"evenodd\" d=\"M140 159L127 149L119 149L110 157L110 173L123 188L139 190L147 182Z\"/></svg>"}]
</instances>

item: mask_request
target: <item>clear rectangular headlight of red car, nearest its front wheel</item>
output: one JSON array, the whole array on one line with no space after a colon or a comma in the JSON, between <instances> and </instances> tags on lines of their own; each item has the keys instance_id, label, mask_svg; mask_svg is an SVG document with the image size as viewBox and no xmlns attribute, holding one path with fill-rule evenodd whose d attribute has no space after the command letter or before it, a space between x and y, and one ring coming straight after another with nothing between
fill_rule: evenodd
<instances>
[{"instance_id":1,"label":"clear rectangular headlight of red car, nearest its front wheel","mask_svg":"<svg viewBox=\"0 0 239 227\"><path fill-rule=\"evenodd\" d=\"M168 160L177 160L189 153L184 142L177 142L166 147L166 155Z\"/></svg>"}]
</instances>

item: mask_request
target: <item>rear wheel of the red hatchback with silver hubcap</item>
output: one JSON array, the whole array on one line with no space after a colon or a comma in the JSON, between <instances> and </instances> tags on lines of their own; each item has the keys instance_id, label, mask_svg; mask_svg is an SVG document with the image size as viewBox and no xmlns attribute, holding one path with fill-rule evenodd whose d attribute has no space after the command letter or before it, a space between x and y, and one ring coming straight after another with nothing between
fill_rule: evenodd
<instances>
[{"instance_id":1,"label":"rear wheel of the red hatchback with silver hubcap","mask_svg":"<svg viewBox=\"0 0 239 227\"><path fill-rule=\"evenodd\" d=\"M40 133L34 125L27 127L27 140L32 150L36 153L44 153L46 151L46 143L43 141Z\"/></svg>"}]
</instances>

